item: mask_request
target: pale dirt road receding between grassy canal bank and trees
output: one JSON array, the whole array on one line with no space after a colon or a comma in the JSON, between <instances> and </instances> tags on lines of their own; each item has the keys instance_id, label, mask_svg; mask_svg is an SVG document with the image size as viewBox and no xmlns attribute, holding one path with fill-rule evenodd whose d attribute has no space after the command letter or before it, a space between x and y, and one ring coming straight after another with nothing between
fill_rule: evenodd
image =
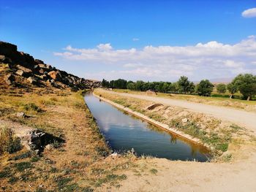
<instances>
[{"instance_id":1,"label":"pale dirt road receding between grassy canal bank and trees","mask_svg":"<svg viewBox=\"0 0 256 192\"><path fill-rule=\"evenodd\" d=\"M228 107L218 107L208 104L198 104L190 101L183 101L178 99L166 99L156 96L142 96L132 93L116 93L107 91L108 93L118 94L121 96L128 96L136 99L145 99L147 101L154 101L161 104L173 105L178 107L184 107L194 112L203 112L208 115L213 115L216 118L222 120L228 120L236 123L239 126L244 126L251 129L256 133L256 114L253 112L246 112L242 110L230 109Z\"/></svg>"}]
</instances>

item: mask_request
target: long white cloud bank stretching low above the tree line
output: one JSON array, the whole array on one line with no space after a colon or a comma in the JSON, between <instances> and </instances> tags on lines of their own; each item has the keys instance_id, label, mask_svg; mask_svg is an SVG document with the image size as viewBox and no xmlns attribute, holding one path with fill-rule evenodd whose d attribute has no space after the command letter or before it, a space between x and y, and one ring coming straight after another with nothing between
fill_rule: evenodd
<instances>
[{"instance_id":1,"label":"long white cloud bank stretching low above the tree line","mask_svg":"<svg viewBox=\"0 0 256 192\"><path fill-rule=\"evenodd\" d=\"M127 78L132 80L176 80L187 75L201 78L233 77L240 72L256 73L256 39L249 36L234 45L211 41L189 46L148 45L141 50L114 49L100 44L92 49L72 46L54 53L64 59L83 61L99 66L98 72L86 67L86 77L101 80Z\"/></svg>"}]
</instances>

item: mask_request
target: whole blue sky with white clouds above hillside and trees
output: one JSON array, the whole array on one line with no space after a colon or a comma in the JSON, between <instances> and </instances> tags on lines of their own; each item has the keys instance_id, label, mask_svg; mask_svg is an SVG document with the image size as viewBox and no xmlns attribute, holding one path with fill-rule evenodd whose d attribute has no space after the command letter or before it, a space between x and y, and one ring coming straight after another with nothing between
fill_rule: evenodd
<instances>
[{"instance_id":1,"label":"whole blue sky with white clouds above hillside and trees","mask_svg":"<svg viewBox=\"0 0 256 192\"><path fill-rule=\"evenodd\" d=\"M256 74L256 1L0 0L0 41L86 79Z\"/></svg>"}]
</instances>

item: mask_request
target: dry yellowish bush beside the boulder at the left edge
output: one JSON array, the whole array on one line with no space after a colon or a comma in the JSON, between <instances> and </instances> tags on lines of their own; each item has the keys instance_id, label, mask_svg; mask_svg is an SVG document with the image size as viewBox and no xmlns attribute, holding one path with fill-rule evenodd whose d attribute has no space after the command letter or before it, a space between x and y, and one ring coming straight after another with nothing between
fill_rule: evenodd
<instances>
[{"instance_id":1,"label":"dry yellowish bush beside the boulder at the left edge","mask_svg":"<svg viewBox=\"0 0 256 192\"><path fill-rule=\"evenodd\" d=\"M11 128L0 128L0 155L14 153L21 149L20 138L15 137Z\"/></svg>"}]
</instances>

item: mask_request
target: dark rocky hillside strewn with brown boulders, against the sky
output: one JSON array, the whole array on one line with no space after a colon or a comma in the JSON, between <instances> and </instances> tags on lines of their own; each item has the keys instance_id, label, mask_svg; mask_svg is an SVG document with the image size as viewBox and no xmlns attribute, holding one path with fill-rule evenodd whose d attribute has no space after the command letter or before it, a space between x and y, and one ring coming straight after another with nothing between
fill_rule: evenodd
<instances>
[{"instance_id":1,"label":"dark rocky hillside strewn with brown boulders, against the sky","mask_svg":"<svg viewBox=\"0 0 256 192\"><path fill-rule=\"evenodd\" d=\"M1 89L48 87L78 91L100 86L98 81L85 80L34 59L31 55L18 51L16 45L7 42L0 42L0 64Z\"/></svg>"}]
</instances>

